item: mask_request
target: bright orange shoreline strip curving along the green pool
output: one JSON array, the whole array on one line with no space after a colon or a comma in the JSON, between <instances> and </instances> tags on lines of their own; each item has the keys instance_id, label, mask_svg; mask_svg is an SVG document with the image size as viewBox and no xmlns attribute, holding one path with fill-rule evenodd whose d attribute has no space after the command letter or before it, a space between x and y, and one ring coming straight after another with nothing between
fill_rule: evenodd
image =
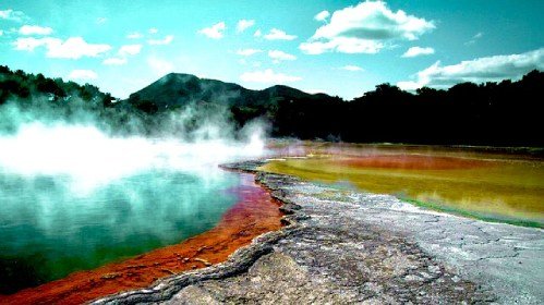
<instances>
[{"instance_id":1,"label":"bright orange shoreline strip curving along the green pool","mask_svg":"<svg viewBox=\"0 0 544 305\"><path fill-rule=\"evenodd\" d=\"M230 254L250 244L254 237L281 228L280 203L255 183L253 174L240 174L242 183L229 190L238 194L239 202L214 229L123 261L0 295L0 303L82 304L109 294L146 288L160 278L227 260Z\"/></svg>"}]
</instances>

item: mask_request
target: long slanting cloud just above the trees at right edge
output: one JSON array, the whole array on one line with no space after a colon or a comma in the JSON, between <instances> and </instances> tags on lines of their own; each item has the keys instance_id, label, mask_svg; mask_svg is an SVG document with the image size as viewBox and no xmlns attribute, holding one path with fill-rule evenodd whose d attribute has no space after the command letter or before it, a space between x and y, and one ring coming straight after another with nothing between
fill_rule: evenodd
<instances>
[{"instance_id":1,"label":"long slanting cloud just above the trees at right edge","mask_svg":"<svg viewBox=\"0 0 544 305\"><path fill-rule=\"evenodd\" d=\"M519 80L532 70L544 70L544 48L520 54L494 56L440 65L437 61L416 73L415 81L399 82L406 90L423 86L448 88L463 82L483 83L501 80Z\"/></svg>"}]
</instances>

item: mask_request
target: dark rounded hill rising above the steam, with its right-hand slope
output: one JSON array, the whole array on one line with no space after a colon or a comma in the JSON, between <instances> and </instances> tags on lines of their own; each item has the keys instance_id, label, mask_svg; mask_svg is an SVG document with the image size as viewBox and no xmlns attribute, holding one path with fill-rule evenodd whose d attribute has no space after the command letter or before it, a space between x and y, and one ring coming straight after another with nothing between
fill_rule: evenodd
<instances>
[{"instance_id":1,"label":"dark rounded hill rising above the steam, with its right-hand slope","mask_svg":"<svg viewBox=\"0 0 544 305\"><path fill-rule=\"evenodd\" d=\"M316 114L333 113L341 102L339 97L307 94L283 85L252 90L238 84L181 73L167 74L122 101L149 114L195 105L207 112L227 109L238 127L264 118L271 123L273 135L305 138L327 137L334 122ZM333 105L336 109L329 109Z\"/></svg>"}]
</instances>

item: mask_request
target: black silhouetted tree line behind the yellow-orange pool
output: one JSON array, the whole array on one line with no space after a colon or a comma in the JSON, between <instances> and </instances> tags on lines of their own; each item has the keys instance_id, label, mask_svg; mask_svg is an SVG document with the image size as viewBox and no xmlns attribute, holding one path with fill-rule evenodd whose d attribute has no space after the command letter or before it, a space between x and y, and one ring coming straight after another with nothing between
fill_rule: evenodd
<instances>
[{"instance_id":1,"label":"black silhouetted tree line behind the yellow-orange pool","mask_svg":"<svg viewBox=\"0 0 544 305\"><path fill-rule=\"evenodd\" d=\"M282 100L269 113L276 136L358 143L544 146L544 73L520 81L461 83L415 93L380 84L351 101Z\"/></svg>"}]
</instances>

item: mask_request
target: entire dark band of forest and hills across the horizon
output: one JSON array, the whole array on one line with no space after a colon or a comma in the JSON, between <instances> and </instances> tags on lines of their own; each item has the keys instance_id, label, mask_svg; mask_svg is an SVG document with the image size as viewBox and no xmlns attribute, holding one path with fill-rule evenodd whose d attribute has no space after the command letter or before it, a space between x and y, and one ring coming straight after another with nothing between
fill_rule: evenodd
<instances>
[{"instance_id":1,"label":"entire dark band of forest and hills across the horizon","mask_svg":"<svg viewBox=\"0 0 544 305\"><path fill-rule=\"evenodd\" d=\"M188 75L166 75L129 99L120 100L89 84L78 85L0 66L0 107L17 103L23 108L45 109L40 111L48 113L55 109L55 113L60 111L59 115L64 118L84 110L111 129L124 129L128 122L136 122L133 124L138 125L138 132L150 134L161 129L160 122L169 113L192 107L196 112L206 113L195 115L193 125L197 124L195 120L217 112L237 129L254 119L267 122L273 137L544 146L544 72L540 71L531 71L519 81L460 83L448 89L423 87L414 93L380 84L352 100L311 95L287 86L250 90L237 84Z\"/></svg>"}]
</instances>

